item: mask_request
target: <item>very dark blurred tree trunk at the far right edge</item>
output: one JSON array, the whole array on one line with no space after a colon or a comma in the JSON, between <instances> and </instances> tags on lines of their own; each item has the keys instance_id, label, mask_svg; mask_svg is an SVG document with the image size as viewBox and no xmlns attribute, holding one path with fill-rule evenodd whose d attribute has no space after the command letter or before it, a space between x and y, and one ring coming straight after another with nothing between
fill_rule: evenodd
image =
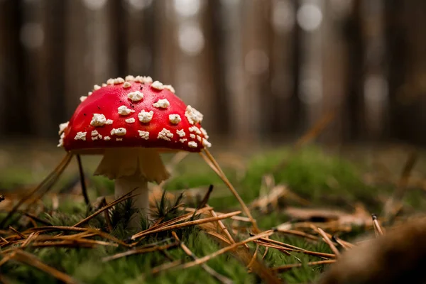
<instances>
[{"instance_id":1,"label":"very dark blurred tree trunk at the far right edge","mask_svg":"<svg viewBox=\"0 0 426 284\"><path fill-rule=\"evenodd\" d=\"M425 143L425 1L386 1L391 137Z\"/></svg>"}]
</instances>

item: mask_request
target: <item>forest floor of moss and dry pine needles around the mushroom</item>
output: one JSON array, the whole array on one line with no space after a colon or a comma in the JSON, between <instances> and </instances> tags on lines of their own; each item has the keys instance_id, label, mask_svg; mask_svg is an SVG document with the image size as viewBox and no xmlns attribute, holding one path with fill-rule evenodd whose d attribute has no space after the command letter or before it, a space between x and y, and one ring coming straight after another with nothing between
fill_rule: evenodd
<instances>
[{"instance_id":1,"label":"forest floor of moss and dry pine needles around the mushroom","mask_svg":"<svg viewBox=\"0 0 426 284\"><path fill-rule=\"evenodd\" d=\"M94 157L82 157L92 209L72 158L6 219L65 154L3 149L0 283L312 283L339 253L426 208L420 151L284 146L213 153L259 231L200 155L182 153L164 157L172 178L151 187L142 234L124 229L130 200L110 206L114 184L92 176Z\"/></svg>"}]
</instances>

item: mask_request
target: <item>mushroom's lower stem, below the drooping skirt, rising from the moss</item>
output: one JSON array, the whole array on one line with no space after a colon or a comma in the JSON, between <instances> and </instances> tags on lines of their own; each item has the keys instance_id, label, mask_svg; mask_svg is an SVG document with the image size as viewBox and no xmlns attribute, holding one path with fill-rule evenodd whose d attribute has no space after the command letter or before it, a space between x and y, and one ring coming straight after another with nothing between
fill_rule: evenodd
<instances>
[{"instance_id":1,"label":"mushroom's lower stem, below the drooping skirt, rising from the moss","mask_svg":"<svg viewBox=\"0 0 426 284\"><path fill-rule=\"evenodd\" d=\"M138 173L116 178L114 190L115 198L122 197L129 191L134 190L133 195L136 196L132 199L132 208L137 209L138 212L133 214L128 226L132 229L141 229L141 217L147 216L148 219L150 218L148 180Z\"/></svg>"}]
</instances>

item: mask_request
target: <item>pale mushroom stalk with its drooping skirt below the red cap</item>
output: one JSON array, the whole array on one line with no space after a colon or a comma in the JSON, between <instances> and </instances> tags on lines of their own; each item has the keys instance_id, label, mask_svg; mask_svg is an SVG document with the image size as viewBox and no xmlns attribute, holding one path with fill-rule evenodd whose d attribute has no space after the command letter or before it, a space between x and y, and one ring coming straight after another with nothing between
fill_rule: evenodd
<instances>
[{"instance_id":1,"label":"pale mushroom stalk with its drooping skirt below the red cap","mask_svg":"<svg viewBox=\"0 0 426 284\"><path fill-rule=\"evenodd\" d=\"M114 180L114 196L122 197L133 190L133 214L129 228L141 229L141 217L150 218L148 182L160 183L169 178L158 151L152 148L111 148L104 151L94 175Z\"/></svg>"}]
</instances>

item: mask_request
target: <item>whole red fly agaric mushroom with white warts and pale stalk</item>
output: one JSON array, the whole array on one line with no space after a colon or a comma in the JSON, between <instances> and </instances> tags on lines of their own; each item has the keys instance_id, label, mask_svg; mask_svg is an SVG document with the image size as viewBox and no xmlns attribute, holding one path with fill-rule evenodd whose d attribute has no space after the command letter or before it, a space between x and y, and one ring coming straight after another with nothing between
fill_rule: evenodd
<instances>
[{"instance_id":1,"label":"whole red fly agaric mushroom with white warts and pale stalk","mask_svg":"<svg viewBox=\"0 0 426 284\"><path fill-rule=\"evenodd\" d=\"M151 77L129 75L94 85L70 121L60 124L58 146L76 154L103 155L94 175L115 181L115 197L136 188L133 206L148 214L148 182L169 177L160 153L200 152L211 146L200 125L202 114L174 93L172 86ZM133 217L129 226L140 224Z\"/></svg>"}]
</instances>

